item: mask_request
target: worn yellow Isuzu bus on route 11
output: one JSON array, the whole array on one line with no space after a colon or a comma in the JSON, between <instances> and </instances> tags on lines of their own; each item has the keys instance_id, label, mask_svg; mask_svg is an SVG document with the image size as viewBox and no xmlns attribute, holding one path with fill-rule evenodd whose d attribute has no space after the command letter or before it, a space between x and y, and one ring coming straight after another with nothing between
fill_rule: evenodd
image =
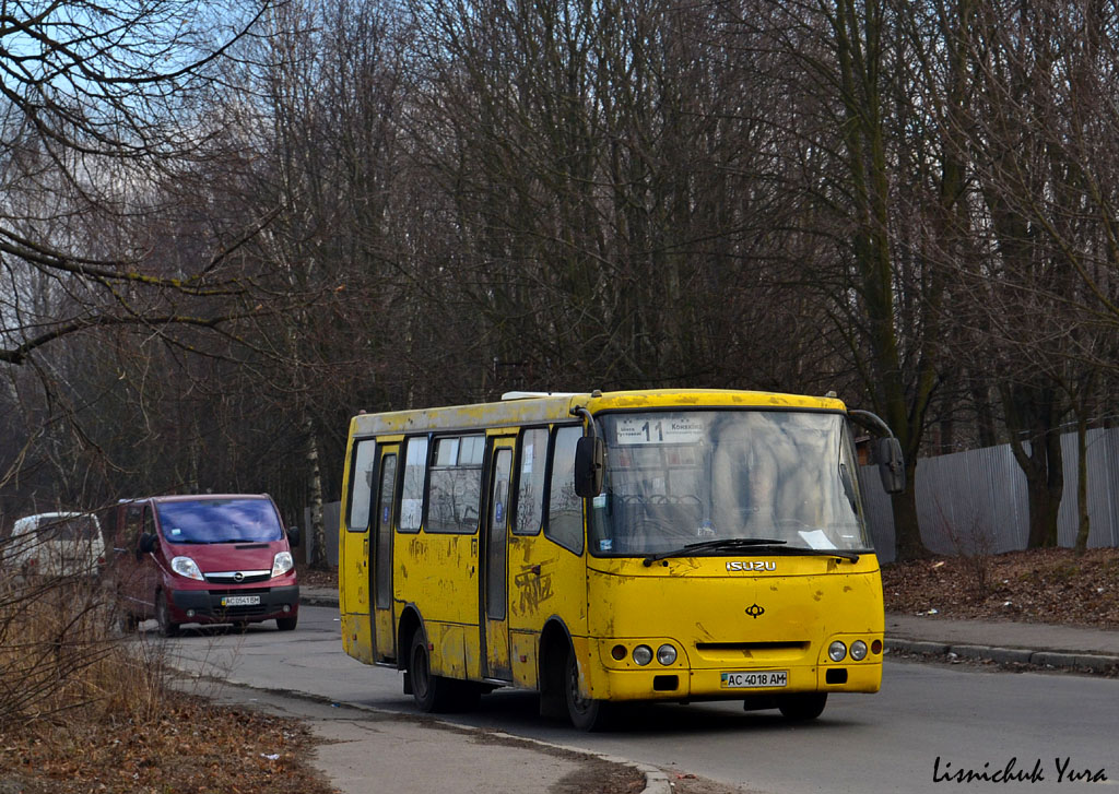
<instances>
[{"instance_id":1,"label":"worn yellow Isuzu bus on route 11","mask_svg":"<svg viewBox=\"0 0 1119 794\"><path fill-rule=\"evenodd\" d=\"M339 528L347 653L425 711L497 687L595 729L623 701L812 719L882 680L878 563L834 397L507 395L359 414ZM874 447L900 488L896 439Z\"/></svg>"}]
</instances>

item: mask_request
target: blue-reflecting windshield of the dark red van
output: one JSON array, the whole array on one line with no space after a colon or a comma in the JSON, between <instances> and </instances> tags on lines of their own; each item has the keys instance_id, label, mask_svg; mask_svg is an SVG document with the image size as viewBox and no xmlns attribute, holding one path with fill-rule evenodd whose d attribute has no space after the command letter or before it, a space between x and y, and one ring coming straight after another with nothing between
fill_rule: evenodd
<instances>
[{"instance_id":1,"label":"blue-reflecting windshield of the dark red van","mask_svg":"<svg viewBox=\"0 0 1119 794\"><path fill-rule=\"evenodd\" d=\"M283 527L266 499L199 499L157 503L159 526L172 543L267 542Z\"/></svg>"}]
</instances>

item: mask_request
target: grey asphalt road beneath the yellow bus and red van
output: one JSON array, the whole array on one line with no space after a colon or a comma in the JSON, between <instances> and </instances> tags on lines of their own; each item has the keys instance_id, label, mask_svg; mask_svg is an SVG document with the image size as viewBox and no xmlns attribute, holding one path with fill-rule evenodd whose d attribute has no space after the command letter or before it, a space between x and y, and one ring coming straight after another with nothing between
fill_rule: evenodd
<instances>
[{"instance_id":1,"label":"grey asphalt road beneath the yellow bus and red van","mask_svg":"<svg viewBox=\"0 0 1119 794\"><path fill-rule=\"evenodd\" d=\"M271 623L244 634L188 631L168 652L185 669L234 683L416 713L399 673L345 654L337 616L303 606L295 632ZM530 693L504 690L448 718L772 794L1119 792L1116 679L887 662L878 694L834 697L800 726L732 702L664 705L589 735L540 719ZM1010 783L959 779L971 772L998 781L1007 771ZM1070 784L1085 772L1094 784Z\"/></svg>"}]
</instances>

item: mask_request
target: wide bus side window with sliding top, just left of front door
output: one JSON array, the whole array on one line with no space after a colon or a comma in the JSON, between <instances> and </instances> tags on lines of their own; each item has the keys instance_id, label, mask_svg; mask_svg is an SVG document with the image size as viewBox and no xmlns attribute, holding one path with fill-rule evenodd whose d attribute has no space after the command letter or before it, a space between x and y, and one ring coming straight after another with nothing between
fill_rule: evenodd
<instances>
[{"instance_id":1,"label":"wide bus side window with sliding top, just left of front door","mask_svg":"<svg viewBox=\"0 0 1119 794\"><path fill-rule=\"evenodd\" d=\"M483 435L435 441L425 531L472 533L478 529L485 451Z\"/></svg>"}]
</instances>

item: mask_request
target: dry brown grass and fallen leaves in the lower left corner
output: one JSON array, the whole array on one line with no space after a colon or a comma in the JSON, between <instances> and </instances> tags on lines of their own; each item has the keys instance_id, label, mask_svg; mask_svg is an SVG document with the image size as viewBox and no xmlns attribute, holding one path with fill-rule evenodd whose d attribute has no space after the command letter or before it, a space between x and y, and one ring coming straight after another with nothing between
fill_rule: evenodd
<instances>
[{"instance_id":1,"label":"dry brown grass and fallen leaves in the lower left corner","mask_svg":"<svg viewBox=\"0 0 1119 794\"><path fill-rule=\"evenodd\" d=\"M96 586L0 579L0 792L333 791L298 721L178 691L112 617Z\"/></svg>"}]
</instances>

